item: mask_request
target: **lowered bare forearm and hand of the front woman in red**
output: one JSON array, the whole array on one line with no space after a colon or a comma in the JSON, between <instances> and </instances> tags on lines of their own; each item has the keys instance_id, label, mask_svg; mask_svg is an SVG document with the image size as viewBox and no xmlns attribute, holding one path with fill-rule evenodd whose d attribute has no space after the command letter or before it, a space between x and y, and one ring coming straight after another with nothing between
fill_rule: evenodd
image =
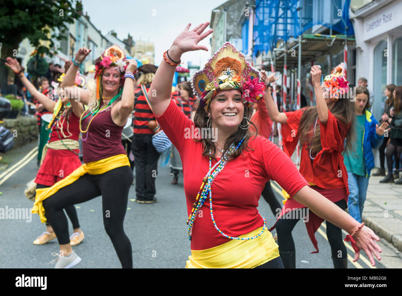
<instances>
[{"instance_id":1,"label":"lowered bare forearm and hand of the front woman in red","mask_svg":"<svg viewBox=\"0 0 402 296\"><path fill-rule=\"evenodd\" d=\"M302 187L295 193L295 195L293 195L293 198L299 203L307 206L321 218L346 230L349 234L352 234L353 231L357 229L357 226L360 225L360 223L353 219L349 214L308 186ZM373 230L367 226L363 226L363 228L361 228L353 238L356 240L357 247L366 252L371 265L375 265L373 254L378 260L381 260L381 256L379 255L379 253L381 253L381 248L375 242L379 241L379 238L374 234ZM359 256L360 251L355 251L353 262L356 262L359 259Z\"/></svg>"}]
</instances>

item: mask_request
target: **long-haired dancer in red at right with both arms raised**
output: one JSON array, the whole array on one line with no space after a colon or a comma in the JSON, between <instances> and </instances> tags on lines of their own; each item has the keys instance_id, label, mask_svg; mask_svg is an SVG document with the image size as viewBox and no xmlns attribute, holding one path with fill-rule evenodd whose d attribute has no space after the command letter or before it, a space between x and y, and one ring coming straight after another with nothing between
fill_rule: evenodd
<instances>
[{"instance_id":1,"label":"long-haired dancer in red at right with both arms raised","mask_svg":"<svg viewBox=\"0 0 402 296\"><path fill-rule=\"evenodd\" d=\"M282 123L283 150L290 157L300 140L300 173L312 188L338 206L343 212L347 208L348 175L343 163L344 141L351 147L355 124L355 103L347 95L349 82L345 78L343 63L324 78L321 85L320 66L312 66L310 74L317 105L293 112L281 113L272 99L267 99L267 108L271 119ZM286 189L285 189L286 190ZM292 196L290 194L290 196ZM285 198L289 195L285 193ZM303 202L287 199L275 226L278 234L279 253L285 268L295 268L295 244L292 230L301 216L308 219L306 227L316 252L317 240L314 233L324 217L320 218L312 210L303 213L303 208L310 208ZM292 211L293 210L293 211ZM284 218L283 214L292 218ZM299 213L303 213L301 215ZM290 215L291 214L291 215ZM297 215L299 214L299 215ZM308 222L307 222L308 221ZM273 226L271 229L275 228ZM342 240L342 229L327 220L328 242L331 246L332 261L335 268L347 268L347 251Z\"/></svg>"}]
</instances>

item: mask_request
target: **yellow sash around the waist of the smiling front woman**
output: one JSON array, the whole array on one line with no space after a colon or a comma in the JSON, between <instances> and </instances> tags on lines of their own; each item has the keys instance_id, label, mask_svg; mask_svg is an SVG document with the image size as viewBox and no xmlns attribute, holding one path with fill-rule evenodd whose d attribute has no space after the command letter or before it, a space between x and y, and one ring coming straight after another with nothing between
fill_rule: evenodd
<instances>
[{"instance_id":1,"label":"yellow sash around the waist of the smiling front woman","mask_svg":"<svg viewBox=\"0 0 402 296\"><path fill-rule=\"evenodd\" d=\"M239 237L251 237L261 230L262 226ZM278 245L271 232L265 228L258 238L230 240L211 249L191 250L186 268L254 268L276 257L279 257Z\"/></svg>"}]
</instances>

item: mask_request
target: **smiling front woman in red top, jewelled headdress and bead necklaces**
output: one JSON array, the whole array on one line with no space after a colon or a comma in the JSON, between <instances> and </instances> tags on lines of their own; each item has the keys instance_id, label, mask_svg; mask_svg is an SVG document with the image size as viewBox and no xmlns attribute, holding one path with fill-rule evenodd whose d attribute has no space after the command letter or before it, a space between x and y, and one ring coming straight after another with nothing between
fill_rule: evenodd
<instances>
[{"instance_id":1,"label":"smiling front woman in red top, jewelled headdress and bead necklaces","mask_svg":"<svg viewBox=\"0 0 402 296\"><path fill-rule=\"evenodd\" d=\"M212 33L209 23L185 30L164 53L149 94L158 123L180 153L189 219L191 256L188 268L281 268L278 246L258 213L258 199L269 179L285 188L316 214L353 234L371 263L381 259L379 238L366 226L312 190L297 168L275 144L248 131L252 105L263 96L260 76L230 43L225 43L193 77L201 101L191 121L171 99L172 80L187 51ZM217 129L217 141L185 136L191 126ZM198 129L194 129L198 131ZM206 139L205 139L206 138ZM209 206L207 204L209 203ZM203 218L201 211L205 214ZM209 214L211 220L209 220ZM183 221L184 222L184 221ZM353 240L353 241L354 241ZM248 256L244 256L247 252ZM355 253L355 261L360 251Z\"/></svg>"}]
</instances>

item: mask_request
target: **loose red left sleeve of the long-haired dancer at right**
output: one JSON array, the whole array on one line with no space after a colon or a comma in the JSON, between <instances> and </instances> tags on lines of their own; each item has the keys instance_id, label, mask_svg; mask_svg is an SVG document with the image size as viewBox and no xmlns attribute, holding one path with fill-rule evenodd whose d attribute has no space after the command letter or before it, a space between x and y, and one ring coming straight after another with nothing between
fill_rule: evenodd
<instances>
[{"instance_id":1,"label":"loose red left sleeve of the long-haired dancer at right","mask_svg":"<svg viewBox=\"0 0 402 296\"><path fill-rule=\"evenodd\" d=\"M299 142L299 124L301 115L307 107L293 112L285 112L287 116L286 124L282 124L283 151L291 157Z\"/></svg>"}]
</instances>

